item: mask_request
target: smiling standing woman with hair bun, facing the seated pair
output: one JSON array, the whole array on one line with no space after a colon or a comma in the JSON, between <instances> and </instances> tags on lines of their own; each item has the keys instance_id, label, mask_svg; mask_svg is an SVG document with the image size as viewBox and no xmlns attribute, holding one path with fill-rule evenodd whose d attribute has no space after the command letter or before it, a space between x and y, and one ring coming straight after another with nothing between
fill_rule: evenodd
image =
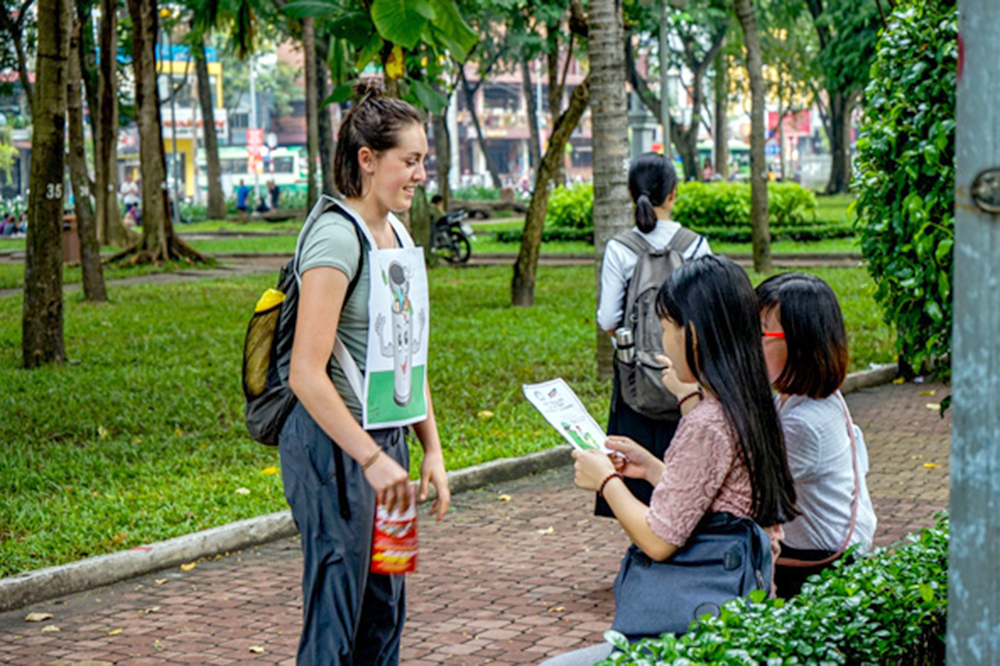
<instances>
[{"instance_id":1,"label":"smiling standing woman with hair bun, facing the seated pair","mask_svg":"<svg viewBox=\"0 0 1000 666\"><path fill-rule=\"evenodd\" d=\"M338 137L336 184L344 198L329 200L328 212L303 227L300 239L289 371L298 404L282 429L279 451L285 496L302 535L304 622L297 661L303 666L399 663L404 579L369 568L376 499L390 510L415 501L409 452L403 427L362 427L371 401L358 395L356 378L371 365L369 346L380 346L380 336L372 339L379 317L369 311L369 269L379 252L412 245L392 213L410 208L426 179L426 155L419 112L366 94ZM414 270L422 271L422 264ZM426 304L422 312L426 317ZM424 448L419 496L425 499L429 484L435 486L432 512L440 520L450 501L441 442L426 383L413 392L426 400L425 418L412 425ZM388 393L381 396L387 403L391 386Z\"/></svg>"}]
</instances>

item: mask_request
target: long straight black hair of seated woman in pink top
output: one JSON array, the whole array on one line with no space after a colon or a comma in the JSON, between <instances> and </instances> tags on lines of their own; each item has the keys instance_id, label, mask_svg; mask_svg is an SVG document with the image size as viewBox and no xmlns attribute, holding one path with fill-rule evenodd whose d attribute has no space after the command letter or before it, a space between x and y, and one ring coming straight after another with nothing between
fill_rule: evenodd
<instances>
[{"instance_id":1,"label":"long straight black hair of seated woman in pink top","mask_svg":"<svg viewBox=\"0 0 1000 666\"><path fill-rule=\"evenodd\" d=\"M750 473L754 520L764 527L788 522L797 513L795 488L746 272L714 255L685 262L664 282L656 312L684 327L688 367L722 404Z\"/></svg>"}]
</instances>

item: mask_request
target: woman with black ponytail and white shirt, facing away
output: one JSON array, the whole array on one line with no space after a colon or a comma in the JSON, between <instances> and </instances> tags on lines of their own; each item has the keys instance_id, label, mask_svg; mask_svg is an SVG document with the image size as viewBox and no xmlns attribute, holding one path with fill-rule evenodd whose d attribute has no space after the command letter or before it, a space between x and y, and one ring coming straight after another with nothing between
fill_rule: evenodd
<instances>
[{"instance_id":1,"label":"woman with black ponytail and white shirt, facing away","mask_svg":"<svg viewBox=\"0 0 1000 666\"><path fill-rule=\"evenodd\" d=\"M645 153L635 158L629 168L629 193L635 203L635 226L608 242L601 267L601 295L597 307L597 323L614 338L619 327L631 327L626 310L626 296L639 262L639 252L664 251L675 241L682 227L670 219L677 197L677 172L666 157ZM630 238L633 236L634 238ZM636 241L641 241L637 243ZM629 247L632 245L632 247ZM711 254L708 240L698 236L681 255L685 261ZM656 317L653 312L650 317ZM662 353L662 350L660 351ZM628 437L662 459L670 444L680 410L665 418L650 418L629 406L622 394L619 368L615 368L615 383L608 416L608 435ZM649 503L653 487L641 479L629 479L629 490L640 501ZM607 503L598 496L595 513L612 516Z\"/></svg>"}]
</instances>

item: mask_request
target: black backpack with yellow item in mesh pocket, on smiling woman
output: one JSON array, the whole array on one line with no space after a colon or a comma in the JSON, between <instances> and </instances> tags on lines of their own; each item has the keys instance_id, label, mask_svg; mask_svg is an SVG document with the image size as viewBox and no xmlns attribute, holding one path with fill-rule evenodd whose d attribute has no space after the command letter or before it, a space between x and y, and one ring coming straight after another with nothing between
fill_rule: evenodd
<instances>
[{"instance_id":1,"label":"black backpack with yellow item in mesh pocket, on smiling woman","mask_svg":"<svg viewBox=\"0 0 1000 666\"><path fill-rule=\"evenodd\" d=\"M321 200L321 203L323 201ZM336 202L329 199L325 207L314 208L310 218L337 210ZM348 216L348 219L351 219ZM302 228L306 234L308 224ZM355 224L358 243L361 245L361 262L358 272L351 278L344 297L346 304L354 293L361 272L364 270L365 243L361 230ZM301 241L299 245L301 245ZM278 435L285 419L295 408L295 394L288 385L288 370L292 360L292 342L295 339L295 320L299 305L299 284L295 277L296 255L281 267L276 289L269 289L257 304L257 310L247 325L243 344L243 396L246 399L246 425L250 436L268 446L278 445Z\"/></svg>"}]
</instances>

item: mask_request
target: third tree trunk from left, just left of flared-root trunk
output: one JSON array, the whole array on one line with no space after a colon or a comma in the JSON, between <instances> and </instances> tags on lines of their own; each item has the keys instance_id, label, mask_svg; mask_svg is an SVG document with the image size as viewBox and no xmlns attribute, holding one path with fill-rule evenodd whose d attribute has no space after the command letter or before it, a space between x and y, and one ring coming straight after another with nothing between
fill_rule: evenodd
<instances>
[{"instance_id":1,"label":"third tree trunk from left, just left of flared-root trunk","mask_svg":"<svg viewBox=\"0 0 1000 666\"><path fill-rule=\"evenodd\" d=\"M101 57L97 63L95 116L94 195L97 204L97 239L124 247L129 234L118 208L118 2L101 0Z\"/></svg>"}]
</instances>

